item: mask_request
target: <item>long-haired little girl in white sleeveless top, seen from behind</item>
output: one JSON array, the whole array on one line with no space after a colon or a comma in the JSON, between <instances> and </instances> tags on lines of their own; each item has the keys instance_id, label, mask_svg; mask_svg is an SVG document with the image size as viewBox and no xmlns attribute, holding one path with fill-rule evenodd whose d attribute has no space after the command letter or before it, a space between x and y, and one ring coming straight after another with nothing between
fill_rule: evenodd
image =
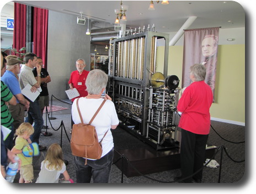
<instances>
[{"instance_id":1,"label":"long-haired little girl in white sleeveless top, seen from behind","mask_svg":"<svg viewBox=\"0 0 256 194\"><path fill-rule=\"evenodd\" d=\"M63 174L64 180L59 180ZM53 143L47 151L45 160L41 163L41 171L36 183L73 183L63 162L63 154L60 145Z\"/></svg>"}]
</instances>

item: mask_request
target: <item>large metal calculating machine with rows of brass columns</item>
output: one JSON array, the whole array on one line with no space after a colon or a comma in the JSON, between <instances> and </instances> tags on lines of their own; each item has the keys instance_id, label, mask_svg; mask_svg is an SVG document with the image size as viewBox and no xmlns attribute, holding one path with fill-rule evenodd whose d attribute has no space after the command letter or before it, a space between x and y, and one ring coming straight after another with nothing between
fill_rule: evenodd
<instances>
[{"instance_id":1,"label":"large metal calculating machine with rows of brass columns","mask_svg":"<svg viewBox=\"0 0 256 194\"><path fill-rule=\"evenodd\" d=\"M146 31L110 40L106 90L118 112L119 125L157 150L179 146L179 79L167 76L168 36ZM156 72L159 42L164 45L163 73Z\"/></svg>"}]
</instances>

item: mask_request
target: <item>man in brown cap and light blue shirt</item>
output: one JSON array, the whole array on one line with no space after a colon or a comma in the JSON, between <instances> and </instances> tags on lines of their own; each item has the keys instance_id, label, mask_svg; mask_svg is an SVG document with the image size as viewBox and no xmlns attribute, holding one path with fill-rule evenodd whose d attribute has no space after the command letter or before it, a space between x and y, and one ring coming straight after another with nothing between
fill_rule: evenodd
<instances>
[{"instance_id":1,"label":"man in brown cap and light blue shirt","mask_svg":"<svg viewBox=\"0 0 256 194\"><path fill-rule=\"evenodd\" d=\"M24 107L29 108L29 101L24 98L22 91L20 90L19 81L17 76L20 73L21 60L15 58L7 58L6 73L2 76L2 81L8 86L9 90L17 98L17 104L8 105L10 114L14 119L14 129L18 129L19 125L24 123Z\"/></svg>"}]
</instances>

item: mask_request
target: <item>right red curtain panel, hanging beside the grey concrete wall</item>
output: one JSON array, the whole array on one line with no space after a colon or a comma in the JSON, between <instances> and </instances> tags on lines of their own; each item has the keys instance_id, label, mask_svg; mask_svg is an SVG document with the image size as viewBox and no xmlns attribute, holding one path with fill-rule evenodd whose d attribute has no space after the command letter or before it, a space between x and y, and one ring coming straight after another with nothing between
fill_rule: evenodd
<instances>
[{"instance_id":1,"label":"right red curtain panel, hanging beside the grey concrete wall","mask_svg":"<svg viewBox=\"0 0 256 194\"><path fill-rule=\"evenodd\" d=\"M48 10L34 8L33 52L42 58L47 69Z\"/></svg>"}]
</instances>

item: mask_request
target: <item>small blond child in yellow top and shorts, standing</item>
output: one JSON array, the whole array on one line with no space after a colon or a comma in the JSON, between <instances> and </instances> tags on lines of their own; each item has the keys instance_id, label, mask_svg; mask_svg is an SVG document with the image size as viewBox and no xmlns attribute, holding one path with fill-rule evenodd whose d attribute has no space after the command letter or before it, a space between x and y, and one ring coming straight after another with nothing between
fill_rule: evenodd
<instances>
[{"instance_id":1,"label":"small blond child in yellow top and shorts, standing","mask_svg":"<svg viewBox=\"0 0 256 194\"><path fill-rule=\"evenodd\" d=\"M22 149L32 143L30 136L34 134L34 128L30 123L22 123L15 134L17 135L17 138L15 140L15 146L12 148L11 152L17 154L20 160L22 160L19 183L30 183L34 179L32 165L33 157L25 157Z\"/></svg>"}]
</instances>

